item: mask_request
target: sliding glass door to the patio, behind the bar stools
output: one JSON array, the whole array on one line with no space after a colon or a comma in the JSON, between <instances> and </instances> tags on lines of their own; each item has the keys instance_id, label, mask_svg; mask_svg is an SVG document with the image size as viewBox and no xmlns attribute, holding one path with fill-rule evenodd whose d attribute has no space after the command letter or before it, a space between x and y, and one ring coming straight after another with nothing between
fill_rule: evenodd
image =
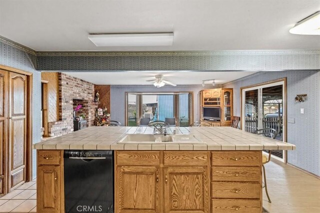
<instances>
[{"instance_id":1,"label":"sliding glass door to the patio, behind the bar stools","mask_svg":"<svg viewBox=\"0 0 320 213\"><path fill-rule=\"evenodd\" d=\"M276 140L285 142L284 81L242 89L242 129L255 133L257 129L272 128ZM284 151L272 151L273 157L285 161Z\"/></svg>"}]
</instances>

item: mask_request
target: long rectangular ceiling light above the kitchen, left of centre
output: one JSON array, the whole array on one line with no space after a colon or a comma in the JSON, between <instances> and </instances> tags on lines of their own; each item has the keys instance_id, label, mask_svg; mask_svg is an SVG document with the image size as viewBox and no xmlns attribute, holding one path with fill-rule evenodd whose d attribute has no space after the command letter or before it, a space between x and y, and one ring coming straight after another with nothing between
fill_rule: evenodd
<instances>
[{"instance_id":1,"label":"long rectangular ceiling light above the kitchen, left of centre","mask_svg":"<svg viewBox=\"0 0 320 213\"><path fill-rule=\"evenodd\" d=\"M173 32L89 34L88 38L96 46L170 46L173 43Z\"/></svg>"}]
</instances>

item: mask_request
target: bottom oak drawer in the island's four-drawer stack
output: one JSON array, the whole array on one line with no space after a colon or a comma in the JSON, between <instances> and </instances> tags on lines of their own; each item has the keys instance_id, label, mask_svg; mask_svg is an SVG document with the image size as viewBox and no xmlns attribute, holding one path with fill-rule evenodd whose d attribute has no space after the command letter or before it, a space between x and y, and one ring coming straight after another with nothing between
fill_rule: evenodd
<instances>
[{"instance_id":1,"label":"bottom oak drawer in the island's four-drawer stack","mask_svg":"<svg viewBox=\"0 0 320 213\"><path fill-rule=\"evenodd\" d=\"M214 213L260 213L260 200L250 199L212 199Z\"/></svg>"}]
</instances>

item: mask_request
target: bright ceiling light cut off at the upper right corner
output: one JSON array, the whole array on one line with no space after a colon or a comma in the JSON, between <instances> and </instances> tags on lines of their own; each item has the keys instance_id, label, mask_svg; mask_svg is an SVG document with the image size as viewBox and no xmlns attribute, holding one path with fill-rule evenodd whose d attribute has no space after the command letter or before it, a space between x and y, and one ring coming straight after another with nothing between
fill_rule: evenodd
<instances>
[{"instance_id":1,"label":"bright ceiling light cut off at the upper right corner","mask_svg":"<svg viewBox=\"0 0 320 213\"><path fill-rule=\"evenodd\" d=\"M289 32L302 35L320 35L320 11L297 22Z\"/></svg>"}]
</instances>

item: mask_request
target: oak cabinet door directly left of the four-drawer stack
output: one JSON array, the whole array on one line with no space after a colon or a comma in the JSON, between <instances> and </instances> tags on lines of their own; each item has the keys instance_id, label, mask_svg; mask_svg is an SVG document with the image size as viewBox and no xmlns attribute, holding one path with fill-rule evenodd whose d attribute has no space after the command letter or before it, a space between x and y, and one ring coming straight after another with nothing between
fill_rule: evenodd
<instances>
[{"instance_id":1,"label":"oak cabinet door directly left of the four-drawer stack","mask_svg":"<svg viewBox=\"0 0 320 213\"><path fill-rule=\"evenodd\" d=\"M207 167L163 168L164 212L209 212Z\"/></svg>"}]
</instances>

